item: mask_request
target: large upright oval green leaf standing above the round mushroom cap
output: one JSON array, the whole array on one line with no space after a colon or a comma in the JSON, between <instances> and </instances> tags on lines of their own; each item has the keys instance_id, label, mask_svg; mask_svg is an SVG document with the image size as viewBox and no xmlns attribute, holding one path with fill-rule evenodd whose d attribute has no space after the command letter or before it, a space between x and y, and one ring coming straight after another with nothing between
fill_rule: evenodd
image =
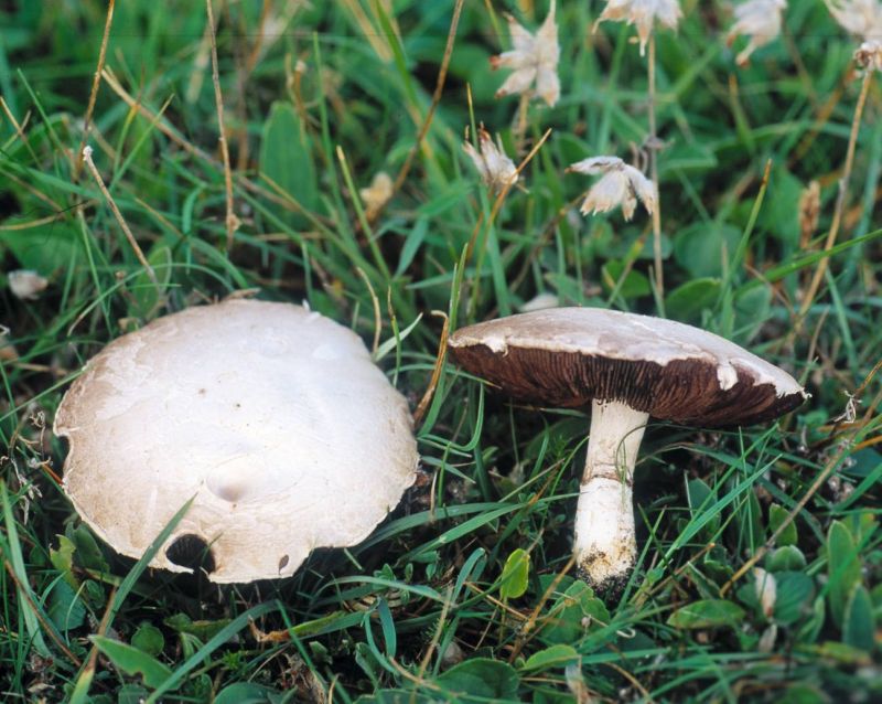
<instances>
[{"instance_id":1,"label":"large upright oval green leaf standing above the round mushroom cap","mask_svg":"<svg viewBox=\"0 0 882 704\"><path fill-rule=\"evenodd\" d=\"M273 103L263 122L260 172L303 209L315 210L319 198L312 149L300 117L289 103ZM281 207L279 216L292 227L302 227L309 222L303 215Z\"/></svg>"}]
</instances>

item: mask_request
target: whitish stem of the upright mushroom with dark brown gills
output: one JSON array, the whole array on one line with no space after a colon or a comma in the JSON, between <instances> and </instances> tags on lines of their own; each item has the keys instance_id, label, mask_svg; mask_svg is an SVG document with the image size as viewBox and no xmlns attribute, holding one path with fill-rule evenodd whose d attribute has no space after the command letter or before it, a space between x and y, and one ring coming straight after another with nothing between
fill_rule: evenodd
<instances>
[{"instance_id":1,"label":"whitish stem of the upright mushroom with dark brown gills","mask_svg":"<svg viewBox=\"0 0 882 704\"><path fill-rule=\"evenodd\" d=\"M573 553L579 570L603 587L626 576L637 555L631 488L649 414L616 401L591 405Z\"/></svg>"}]
</instances>

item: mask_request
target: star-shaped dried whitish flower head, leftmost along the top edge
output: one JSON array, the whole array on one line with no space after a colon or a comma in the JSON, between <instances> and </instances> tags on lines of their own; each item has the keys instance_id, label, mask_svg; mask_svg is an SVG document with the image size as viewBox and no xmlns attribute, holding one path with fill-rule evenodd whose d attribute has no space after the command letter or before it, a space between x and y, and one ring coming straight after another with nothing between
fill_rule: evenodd
<instances>
[{"instance_id":1,"label":"star-shaped dried whitish flower head, leftmost along the top edge","mask_svg":"<svg viewBox=\"0 0 882 704\"><path fill-rule=\"evenodd\" d=\"M548 17L535 36L510 14L507 17L513 49L498 56L491 56L490 65L494 70L512 68L514 73L496 90L497 98L513 93L527 94L535 83L536 95L542 98L549 107L558 102L560 97L560 79L558 78L560 46L558 44L558 25L555 21L555 3L556 0L551 0Z\"/></svg>"}]
</instances>

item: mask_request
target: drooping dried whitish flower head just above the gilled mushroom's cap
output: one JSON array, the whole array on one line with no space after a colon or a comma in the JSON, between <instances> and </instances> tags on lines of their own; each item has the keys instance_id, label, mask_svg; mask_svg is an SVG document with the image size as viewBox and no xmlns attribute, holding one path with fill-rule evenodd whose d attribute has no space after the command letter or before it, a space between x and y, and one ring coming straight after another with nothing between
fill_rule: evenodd
<instances>
[{"instance_id":1,"label":"drooping dried whitish flower head just above the gilled mushroom's cap","mask_svg":"<svg viewBox=\"0 0 882 704\"><path fill-rule=\"evenodd\" d=\"M625 220L631 220L638 200L647 213L652 214L655 210L656 193L653 182L639 169L626 164L619 157L583 159L571 164L567 171L602 174L582 201L579 210L583 215L606 213L621 205Z\"/></svg>"}]
</instances>

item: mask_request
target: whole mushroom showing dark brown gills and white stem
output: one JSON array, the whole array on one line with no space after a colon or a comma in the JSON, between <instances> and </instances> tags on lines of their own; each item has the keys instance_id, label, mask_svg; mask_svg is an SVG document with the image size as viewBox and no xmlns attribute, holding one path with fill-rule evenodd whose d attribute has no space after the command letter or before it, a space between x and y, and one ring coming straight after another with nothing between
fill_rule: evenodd
<instances>
[{"instance_id":1,"label":"whole mushroom showing dark brown gills and white stem","mask_svg":"<svg viewBox=\"0 0 882 704\"><path fill-rule=\"evenodd\" d=\"M453 360L509 396L591 406L573 553L599 587L636 558L632 482L649 417L698 426L772 420L805 401L789 374L719 335L660 318L556 308L458 330Z\"/></svg>"}]
</instances>

